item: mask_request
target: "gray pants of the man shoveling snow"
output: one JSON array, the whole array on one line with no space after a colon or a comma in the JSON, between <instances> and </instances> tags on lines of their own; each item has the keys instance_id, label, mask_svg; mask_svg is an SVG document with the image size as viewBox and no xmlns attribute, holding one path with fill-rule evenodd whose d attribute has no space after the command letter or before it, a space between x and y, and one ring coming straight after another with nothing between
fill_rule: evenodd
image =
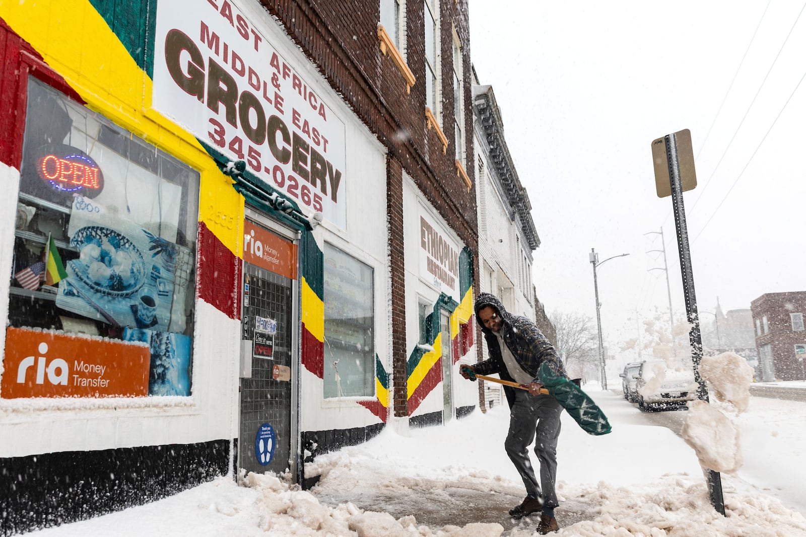
<instances>
[{"instance_id":1,"label":"gray pants of the man shoveling snow","mask_svg":"<svg viewBox=\"0 0 806 537\"><path fill-rule=\"evenodd\" d=\"M557 507L555 481L557 478L557 438L559 415L563 407L550 395L531 395L515 390L515 402L509 413L509 433L504 442L509 459L521 474L526 494L540 495L546 507ZM535 439L535 436L537 438ZM534 442L534 453L540 462L540 483L534 477L529 458L529 446Z\"/></svg>"}]
</instances>

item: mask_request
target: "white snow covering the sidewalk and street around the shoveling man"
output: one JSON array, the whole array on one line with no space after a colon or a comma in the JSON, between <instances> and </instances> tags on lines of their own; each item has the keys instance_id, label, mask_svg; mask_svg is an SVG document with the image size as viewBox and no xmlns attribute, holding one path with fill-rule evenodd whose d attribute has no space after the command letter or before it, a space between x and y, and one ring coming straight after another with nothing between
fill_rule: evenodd
<instances>
[{"instance_id":1,"label":"white snow covering the sidewalk and street around the shoveling man","mask_svg":"<svg viewBox=\"0 0 806 537\"><path fill-rule=\"evenodd\" d=\"M585 389L608 415L613 432L588 436L563 414L559 496L588 504L594 519L563 527L555 535L806 535L806 465L799 452L806 440L806 403L756 397L746 412L734 417L742 428L746 462L737 474L721 474L722 517L710 505L692 448L671 430L646 425L642 413L620 393L602 392L592 383ZM409 436L387 428L366 444L318 456L322 480L311 491L270 475L251 474L247 486L222 477L160 502L35 535L497 537L504 532L501 524L464 524L461 513L456 526L427 527L416 516L396 520L383 505L373 510L349 502L329 506L317 494L324 498L329 490L364 495L384 490L413 506L423 487L445 494L459 488L488 491L491 497L522 494L523 485L503 449L508 422L506 408L496 407L445 427L413 429ZM515 528L509 535L537 534L532 527Z\"/></svg>"}]
</instances>

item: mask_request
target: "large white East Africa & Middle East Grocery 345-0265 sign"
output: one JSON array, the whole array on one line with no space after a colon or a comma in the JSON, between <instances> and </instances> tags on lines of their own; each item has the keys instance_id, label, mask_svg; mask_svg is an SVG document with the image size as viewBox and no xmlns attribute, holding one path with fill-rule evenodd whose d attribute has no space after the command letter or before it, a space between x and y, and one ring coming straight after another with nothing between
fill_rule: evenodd
<instances>
[{"instance_id":1,"label":"large white East Africa & Middle East Grocery 345-0265 sign","mask_svg":"<svg viewBox=\"0 0 806 537\"><path fill-rule=\"evenodd\" d=\"M228 0L159 2L153 106L344 228L344 123L265 24Z\"/></svg>"}]
</instances>

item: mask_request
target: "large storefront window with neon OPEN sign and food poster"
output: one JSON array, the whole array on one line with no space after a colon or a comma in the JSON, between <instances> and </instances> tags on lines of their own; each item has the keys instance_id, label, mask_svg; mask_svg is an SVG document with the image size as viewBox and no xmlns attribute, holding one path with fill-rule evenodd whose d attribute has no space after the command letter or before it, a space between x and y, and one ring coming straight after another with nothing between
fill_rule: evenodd
<instances>
[{"instance_id":1,"label":"large storefront window with neon OPEN sign and food poster","mask_svg":"<svg viewBox=\"0 0 806 537\"><path fill-rule=\"evenodd\" d=\"M29 78L0 396L190 394L198 184Z\"/></svg>"}]
</instances>

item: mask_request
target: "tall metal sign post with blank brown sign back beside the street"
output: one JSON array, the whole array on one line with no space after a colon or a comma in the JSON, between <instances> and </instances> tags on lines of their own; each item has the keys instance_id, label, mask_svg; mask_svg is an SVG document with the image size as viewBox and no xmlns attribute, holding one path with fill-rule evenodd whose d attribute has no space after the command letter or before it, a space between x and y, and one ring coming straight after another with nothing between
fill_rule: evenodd
<instances>
[{"instance_id":1,"label":"tall metal sign post with blank brown sign back beside the street","mask_svg":"<svg viewBox=\"0 0 806 537\"><path fill-rule=\"evenodd\" d=\"M692 255L688 246L688 228L686 226L686 213L683 209L683 190L696 187L694 172L694 155L692 151L692 137L689 130L681 130L675 134L667 134L652 143L653 155L658 155L659 141L663 139L666 150L666 160L669 172L669 185L671 186L671 204L675 212L675 229L677 230L677 246L680 254L680 272L683 275L683 295L686 299L686 316L692 324L688 339L692 345L692 363L694 366L694 379L697 382L697 398L708 401L708 388L700 375L700 361L703 356L703 345L700 339L700 320L697 313L697 299L694 293L694 274L692 272ZM661 189L658 177L659 162L655 158L655 181L658 185L658 196L668 195ZM683 178L681 179L681 171ZM662 195L663 194L663 195ZM722 481L719 472L704 469L708 481L708 493L711 505L722 516L725 516L725 502L722 498Z\"/></svg>"}]
</instances>

